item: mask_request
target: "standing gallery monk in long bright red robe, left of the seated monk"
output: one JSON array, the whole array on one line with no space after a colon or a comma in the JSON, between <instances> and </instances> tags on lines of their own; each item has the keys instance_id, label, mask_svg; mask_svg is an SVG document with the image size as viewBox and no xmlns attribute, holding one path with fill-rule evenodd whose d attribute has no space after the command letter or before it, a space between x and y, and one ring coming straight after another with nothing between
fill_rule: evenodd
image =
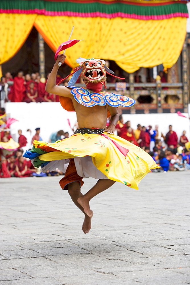
<instances>
[{"instance_id":1,"label":"standing gallery monk in long bright red robe, left of the seated monk","mask_svg":"<svg viewBox=\"0 0 190 285\"><path fill-rule=\"evenodd\" d=\"M22 102L22 100L24 99L24 92L26 90L22 71L19 71L18 75L14 78L13 90L13 102Z\"/></svg>"}]
</instances>

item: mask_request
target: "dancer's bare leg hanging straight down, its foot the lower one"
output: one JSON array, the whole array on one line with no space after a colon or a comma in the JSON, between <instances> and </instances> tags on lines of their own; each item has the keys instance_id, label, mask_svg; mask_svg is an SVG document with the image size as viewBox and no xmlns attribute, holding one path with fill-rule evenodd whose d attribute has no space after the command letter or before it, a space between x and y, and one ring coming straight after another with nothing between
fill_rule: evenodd
<instances>
[{"instance_id":1,"label":"dancer's bare leg hanging straight down, its foot the lower one","mask_svg":"<svg viewBox=\"0 0 190 285\"><path fill-rule=\"evenodd\" d=\"M82 197L82 193L80 192L80 184L78 182L72 182L68 185L68 192L69 195L71 196L71 199L75 203L75 205L84 213L85 218L84 218L84 223L82 225L82 231L84 233L89 233L91 229L91 219L92 217L88 217L88 215L84 212L83 207L77 202L77 199L79 197ZM91 211L92 215L93 212Z\"/></svg>"}]
</instances>

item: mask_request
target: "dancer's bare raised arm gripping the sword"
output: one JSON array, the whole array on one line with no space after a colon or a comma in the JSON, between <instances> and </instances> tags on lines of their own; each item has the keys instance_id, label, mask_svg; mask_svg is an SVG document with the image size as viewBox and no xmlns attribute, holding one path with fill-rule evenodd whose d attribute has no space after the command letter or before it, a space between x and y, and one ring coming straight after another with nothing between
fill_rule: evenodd
<instances>
[{"instance_id":1,"label":"dancer's bare raised arm gripping the sword","mask_svg":"<svg viewBox=\"0 0 190 285\"><path fill-rule=\"evenodd\" d=\"M46 83L46 92L56 94L59 96L63 96L63 97L71 98L71 96L72 96L71 92L67 87L61 86L61 85L58 86L55 84L57 71L59 69L58 63L59 62L63 63L65 61L65 58L66 58L66 56L63 54L59 54L57 56L57 60L53 66L53 69L51 70L51 73L50 73L48 80L47 80L47 83Z\"/></svg>"}]
</instances>

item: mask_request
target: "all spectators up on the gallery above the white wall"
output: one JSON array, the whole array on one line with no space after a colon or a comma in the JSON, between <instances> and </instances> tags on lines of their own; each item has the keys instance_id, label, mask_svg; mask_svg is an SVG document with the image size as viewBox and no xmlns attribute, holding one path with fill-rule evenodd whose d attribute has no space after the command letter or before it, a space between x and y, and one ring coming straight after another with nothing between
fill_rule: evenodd
<instances>
[{"instance_id":1,"label":"all spectators up on the gallery above the white wall","mask_svg":"<svg viewBox=\"0 0 190 285\"><path fill-rule=\"evenodd\" d=\"M121 71L115 70L116 76L124 76L125 82L121 79L109 77L107 78L107 82L115 83L116 89L117 88L124 88L127 89L126 82L128 82L128 74L120 74ZM32 73L32 74L25 74L22 71L19 71L17 76L13 78L10 72L7 72L5 76L1 77L0 82L0 107L5 107L5 102L59 102L59 96L48 93L45 90L46 82L48 80L49 74L46 76L46 80L43 81L42 78L40 78L39 72ZM166 82L166 79L164 77L164 73L160 71L159 73L161 82ZM59 81L62 78L57 75L56 77L56 84L59 83ZM127 81L126 81L127 80ZM80 80L77 81L78 83ZM117 86L117 83L122 83L120 86ZM150 78L150 80L147 79L147 82L155 82L153 78ZM64 84L67 85L68 79L64 81ZM141 75L136 74L135 75L135 83L142 83ZM163 87L167 88L167 87ZM110 87L110 89L114 89L114 87ZM135 87L135 89L141 89L141 87ZM121 91L118 89L118 91Z\"/></svg>"}]
</instances>

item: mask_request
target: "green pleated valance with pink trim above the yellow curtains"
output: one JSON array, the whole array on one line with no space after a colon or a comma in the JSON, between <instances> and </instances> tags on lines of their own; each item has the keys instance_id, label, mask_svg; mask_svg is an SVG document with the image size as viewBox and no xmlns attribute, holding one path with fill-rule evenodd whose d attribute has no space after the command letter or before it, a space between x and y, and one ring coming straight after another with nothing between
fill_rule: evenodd
<instances>
[{"instance_id":1,"label":"green pleated valance with pink trim above the yellow curtains","mask_svg":"<svg viewBox=\"0 0 190 285\"><path fill-rule=\"evenodd\" d=\"M187 1L1 1L0 13L162 20L188 17Z\"/></svg>"}]
</instances>

